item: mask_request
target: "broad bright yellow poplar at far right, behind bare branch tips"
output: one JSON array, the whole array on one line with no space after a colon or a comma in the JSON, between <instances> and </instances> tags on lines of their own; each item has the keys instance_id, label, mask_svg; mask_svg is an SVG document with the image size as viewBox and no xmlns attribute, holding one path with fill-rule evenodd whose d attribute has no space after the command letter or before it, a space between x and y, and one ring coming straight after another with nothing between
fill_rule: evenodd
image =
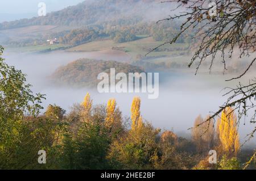
<instances>
[{"instance_id":1,"label":"broad bright yellow poplar at far right, behind bare branch tips","mask_svg":"<svg viewBox=\"0 0 256 181\"><path fill-rule=\"evenodd\" d=\"M222 111L221 118L218 119L218 129L222 149L226 153L237 154L240 149L239 134L237 131L237 117L231 107Z\"/></svg>"}]
</instances>

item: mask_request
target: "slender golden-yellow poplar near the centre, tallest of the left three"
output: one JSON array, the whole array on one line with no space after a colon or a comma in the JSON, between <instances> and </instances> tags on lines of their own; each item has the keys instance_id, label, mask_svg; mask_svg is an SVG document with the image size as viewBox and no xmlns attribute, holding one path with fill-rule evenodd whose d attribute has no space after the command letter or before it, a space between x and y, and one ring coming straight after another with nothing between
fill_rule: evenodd
<instances>
[{"instance_id":1,"label":"slender golden-yellow poplar near the centre, tallest of the left three","mask_svg":"<svg viewBox=\"0 0 256 181\"><path fill-rule=\"evenodd\" d=\"M141 99L135 97L133 103L131 104L131 129L135 130L139 127L142 127L142 116L141 116Z\"/></svg>"}]
</instances>

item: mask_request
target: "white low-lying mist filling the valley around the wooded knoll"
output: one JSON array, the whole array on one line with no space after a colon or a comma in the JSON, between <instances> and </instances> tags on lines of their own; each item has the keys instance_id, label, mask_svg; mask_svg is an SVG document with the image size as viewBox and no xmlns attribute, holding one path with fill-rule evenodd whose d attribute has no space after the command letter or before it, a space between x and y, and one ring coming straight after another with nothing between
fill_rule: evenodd
<instances>
[{"instance_id":1,"label":"white low-lying mist filling the valley around the wooded knoll","mask_svg":"<svg viewBox=\"0 0 256 181\"><path fill-rule=\"evenodd\" d=\"M27 74L27 81L33 85L34 92L46 94L44 108L49 104L57 104L69 111L74 103L82 102L86 92L90 92L94 104L105 104L110 98L115 98L123 116L129 116L133 97L140 96L143 119L162 130L173 129L176 133L187 134L190 132L187 129L193 127L194 120L199 114L206 117L210 111L217 111L226 100L222 96L225 93L222 89L227 86L224 75L198 74L195 76L195 72L181 71L160 73L159 98L148 99L147 94L100 94L86 88L56 87L48 81L48 77L59 66L67 65L78 58L113 60L114 57L102 55L97 57L95 52L64 51L47 54L16 54L8 52L8 49L4 57L8 64L14 65L16 69L21 69ZM246 134L252 129L253 126L249 121L246 121L245 125L240 124L241 141L245 140ZM255 138L251 140L249 145L255 145L255 140Z\"/></svg>"}]
</instances>

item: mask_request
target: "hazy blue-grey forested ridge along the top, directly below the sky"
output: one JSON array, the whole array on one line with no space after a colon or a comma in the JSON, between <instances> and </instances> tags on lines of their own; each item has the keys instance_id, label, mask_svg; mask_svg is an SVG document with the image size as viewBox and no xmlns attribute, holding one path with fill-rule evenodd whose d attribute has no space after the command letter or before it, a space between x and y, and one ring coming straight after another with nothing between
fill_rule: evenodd
<instances>
[{"instance_id":1,"label":"hazy blue-grey forested ridge along the top, directly below the sky","mask_svg":"<svg viewBox=\"0 0 256 181\"><path fill-rule=\"evenodd\" d=\"M153 10L155 13L152 16ZM161 15L166 15L164 10L168 11L170 7L160 3L160 0L88 0L46 16L1 23L0 30L33 25L88 26L123 18L158 20Z\"/></svg>"}]
</instances>

